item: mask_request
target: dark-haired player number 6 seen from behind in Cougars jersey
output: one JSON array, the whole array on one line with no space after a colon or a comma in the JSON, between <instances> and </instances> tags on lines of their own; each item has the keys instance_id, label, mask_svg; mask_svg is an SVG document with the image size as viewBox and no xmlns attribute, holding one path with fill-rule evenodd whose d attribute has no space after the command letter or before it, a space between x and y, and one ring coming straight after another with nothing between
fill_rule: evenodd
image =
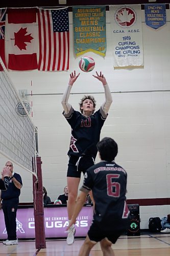
<instances>
[{"instance_id":1,"label":"dark-haired player number 6 seen from behind in Cougars jersey","mask_svg":"<svg viewBox=\"0 0 170 256\"><path fill-rule=\"evenodd\" d=\"M114 162L117 143L105 137L98 142L97 148L102 161L88 168L85 173L81 193L68 226L76 223L86 195L92 190L95 213L79 256L88 256L97 242L101 244L103 255L114 255L111 245L115 244L128 225L130 211L126 203L127 173Z\"/></svg>"}]
</instances>

